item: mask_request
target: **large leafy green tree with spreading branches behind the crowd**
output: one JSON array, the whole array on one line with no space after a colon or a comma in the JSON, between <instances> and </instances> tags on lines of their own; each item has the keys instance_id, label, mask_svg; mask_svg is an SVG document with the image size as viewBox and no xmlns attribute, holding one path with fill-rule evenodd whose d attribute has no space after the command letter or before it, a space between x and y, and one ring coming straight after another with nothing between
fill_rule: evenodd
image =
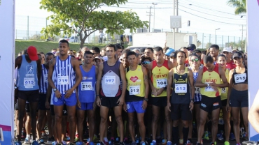
<instances>
[{"instance_id":1,"label":"large leafy green tree with spreading branches behind the crowd","mask_svg":"<svg viewBox=\"0 0 259 145\"><path fill-rule=\"evenodd\" d=\"M138 28L148 27L147 21L141 21L137 13L127 10L125 12L97 11L101 6L119 6L127 0L41 0L41 9L54 13L48 19L52 24L43 28L43 36L71 35L71 30L79 34L80 47L85 39L94 31L106 29L105 33L111 35L130 32ZM83 35L84 34L84 35Z\"/></svg>"}]
</instances>

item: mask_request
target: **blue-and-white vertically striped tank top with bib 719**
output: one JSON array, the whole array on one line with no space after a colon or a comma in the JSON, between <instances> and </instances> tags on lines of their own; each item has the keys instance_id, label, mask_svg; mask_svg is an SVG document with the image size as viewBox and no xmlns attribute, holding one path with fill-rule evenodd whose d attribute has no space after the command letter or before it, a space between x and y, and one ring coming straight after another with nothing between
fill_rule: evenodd
<instances>
[{"instance_id":1,"label":"blue-and-white vertically striped tank top with bib 719","mask_svg":"<svg viewBox=\"0 0 259 145\"><path fill-rule=\"evenodd\" d=\"M65 94L67 90L71 89L76 83L76 73L71 64L71 56L62 61L59 56L56 57L56 64L54 66L54 84L61 94ZM76 93L73 90L73 93Z\"/></svg>"}]
</instances>

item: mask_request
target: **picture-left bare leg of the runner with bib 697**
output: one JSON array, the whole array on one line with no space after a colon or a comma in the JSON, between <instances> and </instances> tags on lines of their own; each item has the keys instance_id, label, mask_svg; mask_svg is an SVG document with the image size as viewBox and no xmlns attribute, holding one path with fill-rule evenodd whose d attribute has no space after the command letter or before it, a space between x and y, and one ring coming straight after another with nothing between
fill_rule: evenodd
<instances>
[{"instance_id":1,"label":"picture-left bare leg of the runner with bib 697","mask_svg":"<svg viewBox=\"0 0 259 145\"><path fill-rule=\"evenodd\" d=\"M100 107L100 116L101 116L101 122L100 122L100 141L104 141L104 132L106 128L107 118L108 118L108 112L109 107L101 106Z\"/></svg>"}]
</instances>

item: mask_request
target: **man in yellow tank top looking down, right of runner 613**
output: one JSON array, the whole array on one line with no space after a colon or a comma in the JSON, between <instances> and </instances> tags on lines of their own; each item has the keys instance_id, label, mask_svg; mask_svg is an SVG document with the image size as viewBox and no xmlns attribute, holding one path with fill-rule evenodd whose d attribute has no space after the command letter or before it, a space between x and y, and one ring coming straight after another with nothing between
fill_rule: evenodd
<instances>
[{"instance_id":1,"label":"man in yellow tank top looking down, right of runner 613","mask_svg":"<svg viewBox=\"0 0 259 145\"><path fill-rule=\"evenodd\" d=\"M199 70L195 86L201 88L202 101L200 105L200 127L198 128L198 142L200 145L204 133L204 125L207 116L212 116L212 142L216 144L216 135L218 132L218 118L221 108L221 88L228 87L228 80L222 68L214 65L214 59L211 56L204 57L204 68ZM221 79L222 82L221 83Z\"/></svg>"}]
</instances>

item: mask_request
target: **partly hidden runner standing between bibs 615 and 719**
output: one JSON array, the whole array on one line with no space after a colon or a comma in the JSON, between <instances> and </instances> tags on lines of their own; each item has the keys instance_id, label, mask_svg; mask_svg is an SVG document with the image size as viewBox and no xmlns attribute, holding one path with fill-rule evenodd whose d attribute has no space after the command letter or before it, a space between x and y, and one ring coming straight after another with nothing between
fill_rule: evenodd
<instances>
[{"instance_id":1,"label":"partly hidden runner standing between bibs 615 and 719","mask_svg":"<svg viewBox=\"0 0 259 145\"><path fill-rule=\"evenodd\" d=\"M41 84L39 89L39 101L38 101L38 123L37 123L37 132L38 132L38 143L43 144L43 139L41 139L41 129L43 126L43 122L45 116L47 117L48 122L48 142L54 142L54 137L52 134L52 126L51 126L51 114L50 108L45 107L46 93L48 89L48 66L51 59L54 58L54 54L48 52L45 54L45 64L41 65ZM45 124L44 124L45 126Z\"/></svg>"}]
</instances>

